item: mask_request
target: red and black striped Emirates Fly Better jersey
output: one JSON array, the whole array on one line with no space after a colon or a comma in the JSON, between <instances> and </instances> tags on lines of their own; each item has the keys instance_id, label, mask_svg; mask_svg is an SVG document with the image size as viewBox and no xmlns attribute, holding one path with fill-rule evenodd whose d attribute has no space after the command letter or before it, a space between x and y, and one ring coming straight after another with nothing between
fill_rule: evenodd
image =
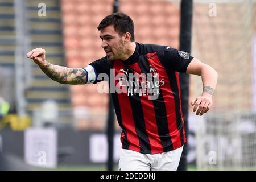
<instances>
[{"instance_id":1,"label":"red and black striped Emirates Fly Better jersey","mask_svg":"<svg viewBox=\"0 0 256 182\"><path fill-rule=\"evenodd\" d=\"M125 61L103 57L90 63L98 78L94 84L102 80L101 73L108 75L105 81L122 128L122 148L157 154L183 146L178 72L186 72L192 59L171 47L136 43L135 52Z\"/></svg>"}]
</instances>

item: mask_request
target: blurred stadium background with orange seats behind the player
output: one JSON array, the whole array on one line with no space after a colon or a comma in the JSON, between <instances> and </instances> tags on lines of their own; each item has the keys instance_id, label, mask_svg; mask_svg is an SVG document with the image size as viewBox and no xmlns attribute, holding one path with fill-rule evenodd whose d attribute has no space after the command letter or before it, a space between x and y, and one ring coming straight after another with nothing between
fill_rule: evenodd
<instances>
[{"instance_id":1,"label":"blurred stadium background with orange seats behind the player","mask_svg":"<svg viewBox=\"0 0 256 182\"><path fill-rule=\"evenodd\" d=\"M256 169L255 2L193 1L191 55L217 70L218 85L207 114L189 108L189 169ZM120 0L119 10L134 20L137 42L179 48L180 1ZM42 47L50 63L85 67L104 56L97 26L112 11L113 0L0 0L0 97L10 104L2 169L106 169L108 94L54 82L25 55ZM201 78L189 88L189 100L199 96ZM115 133L116 164L116 121Z\"/></svg>"}]
</instances>

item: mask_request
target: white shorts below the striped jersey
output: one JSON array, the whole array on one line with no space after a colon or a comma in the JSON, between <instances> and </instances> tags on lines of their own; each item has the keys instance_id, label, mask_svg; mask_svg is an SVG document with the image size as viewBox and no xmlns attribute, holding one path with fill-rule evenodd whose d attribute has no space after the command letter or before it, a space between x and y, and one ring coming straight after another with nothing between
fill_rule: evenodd
<instances>
[{"instance_id":1,"label":"white shorts below the striped jersey","mask_svg":"<svg viewBox=\"0 0 256 182\"><path fill-rule=\"evenodd\" d=\"M183 146L160 154L141 154L133 150L120 151L119 171L176 171Z\"/></svg>"}]
</instances>

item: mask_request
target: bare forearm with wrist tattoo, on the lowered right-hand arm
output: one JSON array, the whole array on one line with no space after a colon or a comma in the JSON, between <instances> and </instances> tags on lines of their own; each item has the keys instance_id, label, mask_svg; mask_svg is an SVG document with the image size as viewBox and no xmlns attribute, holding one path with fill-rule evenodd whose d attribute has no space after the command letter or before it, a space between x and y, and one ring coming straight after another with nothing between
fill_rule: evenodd
<instances>
[{"instance_id":1,"label":"bare forearm with wrist tattoo, on the lowered right-hand arm","mask_svg":"<svg viewBox=\"0 0 256 182\"><path fill-rule=\"evenodd\" d=\"M202 81L203 81L203 94L208 93L213 96L214 90L217 85L218 73L209 65L206 65L202 70Z\"/></svg>"}]
</instances>

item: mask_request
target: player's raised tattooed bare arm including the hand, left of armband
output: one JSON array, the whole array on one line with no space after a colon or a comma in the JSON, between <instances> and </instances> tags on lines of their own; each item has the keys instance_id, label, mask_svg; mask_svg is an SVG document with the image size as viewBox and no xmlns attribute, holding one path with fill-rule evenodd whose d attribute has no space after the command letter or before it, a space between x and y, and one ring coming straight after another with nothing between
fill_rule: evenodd
<instances>
[{"instance_id":1,"label":"player's raised tattooed bare arm including the hand, left of armband","mask_svg":"<svg viewBox=\"0 0 256 182\"><path fill-rule=\"evenodd\" d=\"M46 50L36 48L27 53L46 75L61 84L85 84L87 73L82 68L67 68L46 61Z\"/></svg>"}]
</instances>

